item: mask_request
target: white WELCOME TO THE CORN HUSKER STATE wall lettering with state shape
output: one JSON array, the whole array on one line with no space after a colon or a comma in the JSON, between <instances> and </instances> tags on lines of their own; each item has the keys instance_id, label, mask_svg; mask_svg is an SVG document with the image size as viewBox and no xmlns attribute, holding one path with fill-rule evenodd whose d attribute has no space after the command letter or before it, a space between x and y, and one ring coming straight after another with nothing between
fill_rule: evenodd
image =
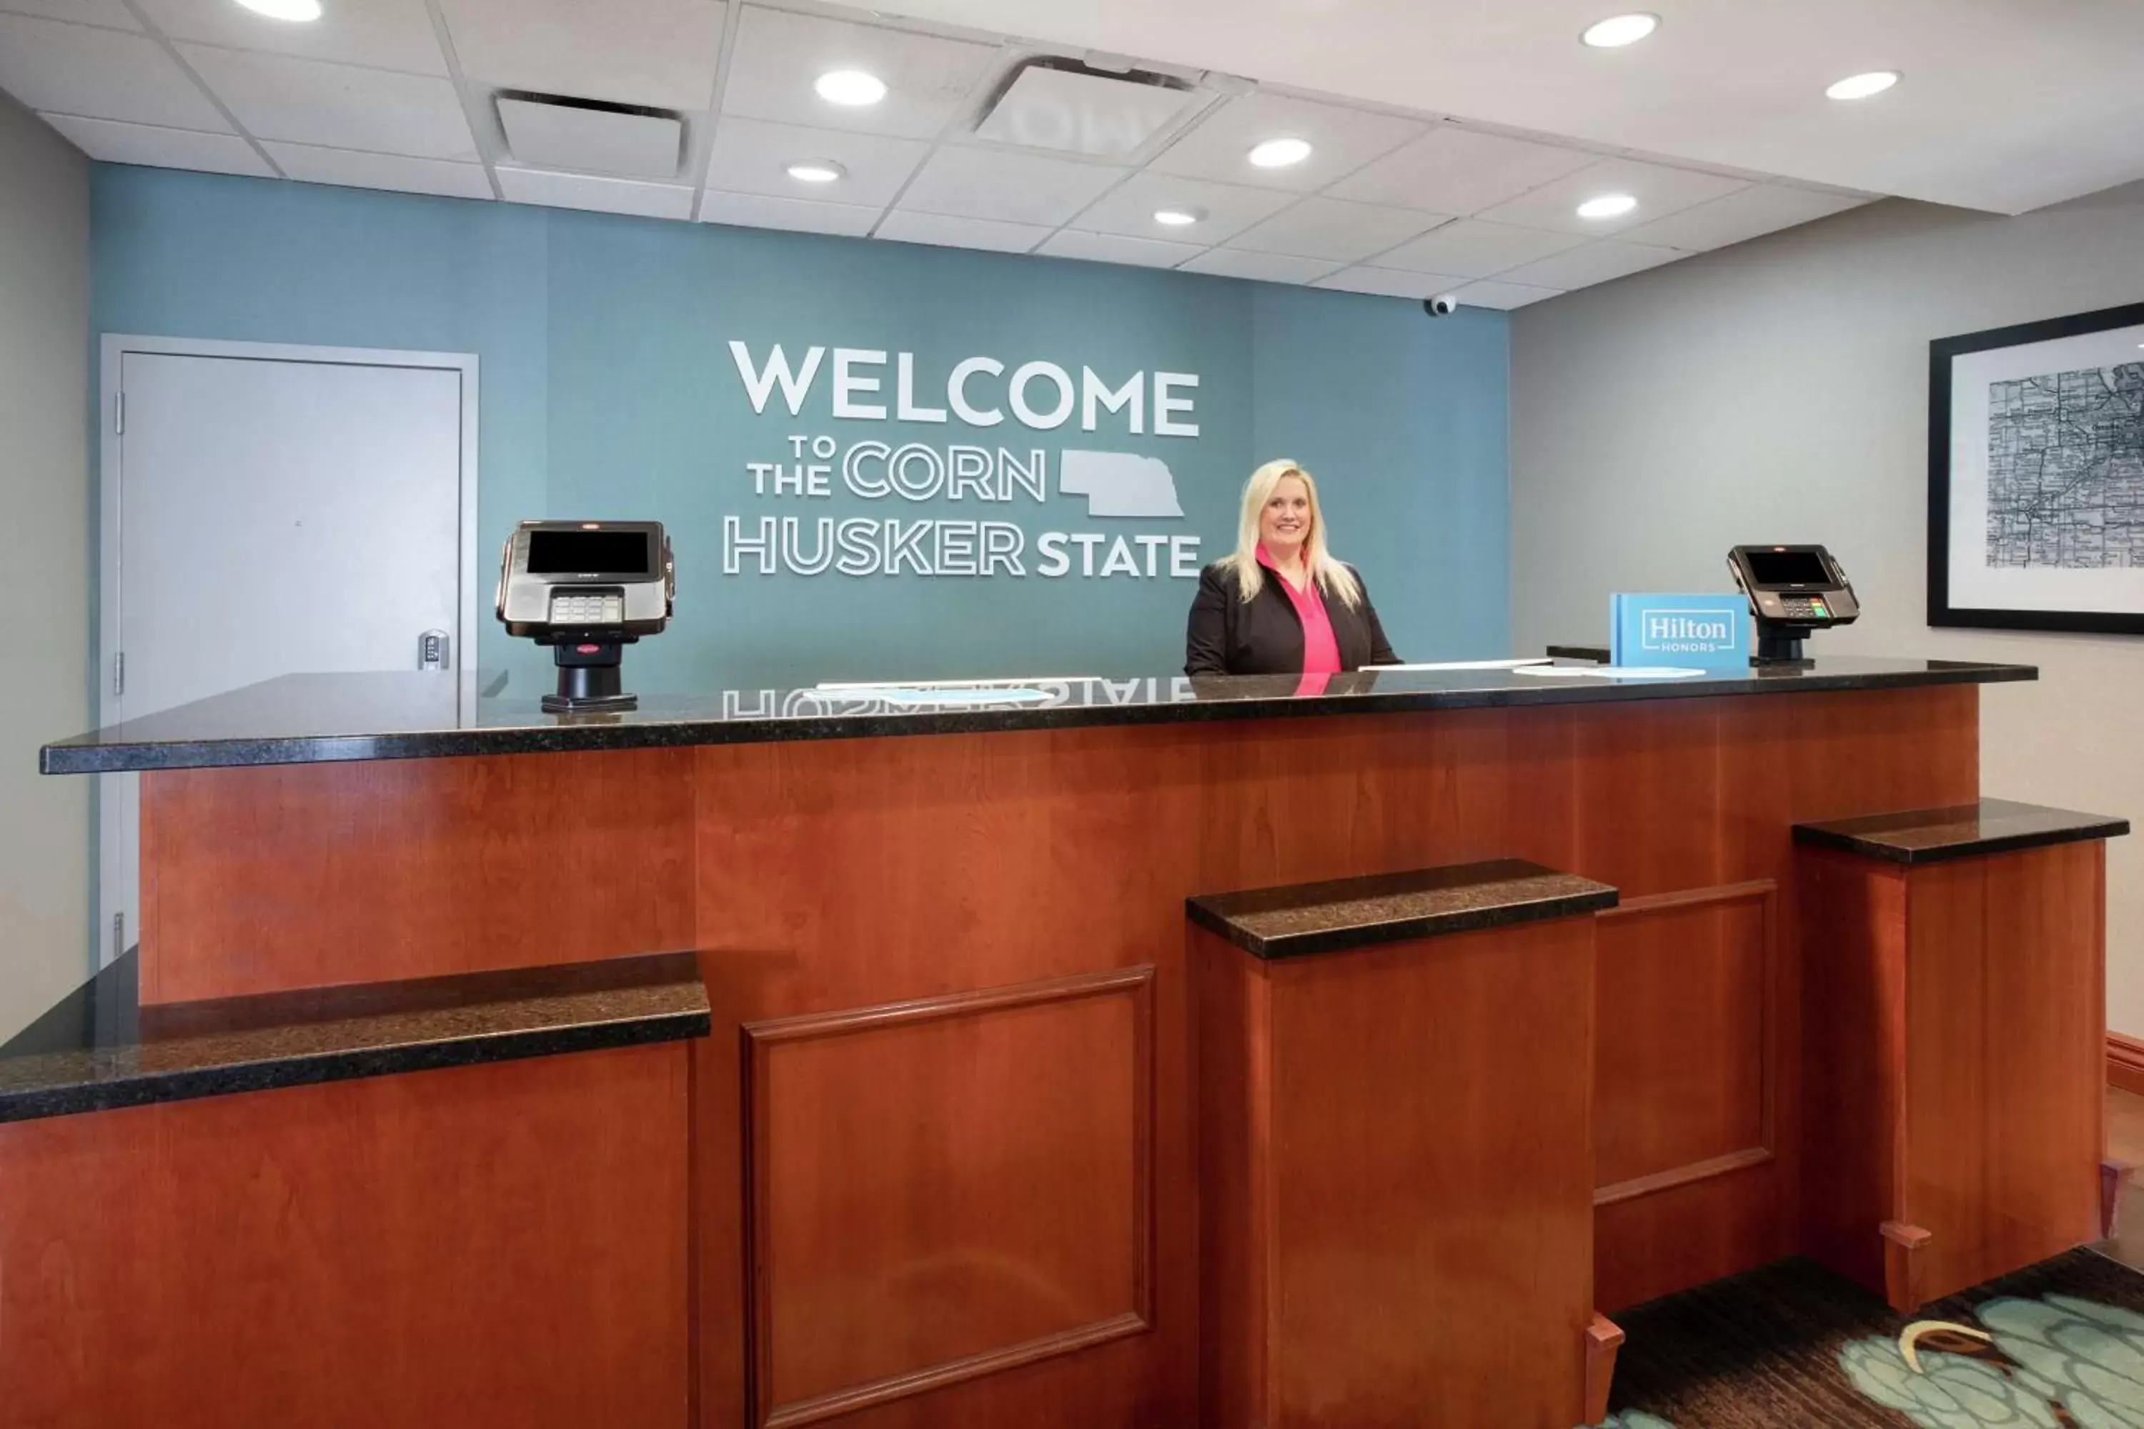
<instances>
[{"instance_id":1,"label":"white WELCOME TO THE CORN HUSKER STATE wall lettering with state shape","mask_svg":"<svg viewBox=\"0 0 2144 1429\"><path fill-rule=\"evenodd\" d=\"M963 358L943 386L918 392L915 354L907 351L806 347L802 362L791 362L778 343L755 356L733 341L729 356L755 416L768 416L776 392L791 418L802 416L823 379L836 422L946 424L965 439L785 433L770 461L744 463L753 499L825 503L832 514L723 516L725 576L1198 578L1198 538L1181 527L1038 529L1063 510L1051 508L1053 486L1059 497L1081 497L1085 516L1181 523L1166 461L1098 446L1147 435L1196 439L1196 373L1102 377L1055 362L1008 373L997 358ZM1055 446L1063 437L1042 446L1033 435L1057 431L1076 431L1076 446Z\"/></svg>"}]
</instances>

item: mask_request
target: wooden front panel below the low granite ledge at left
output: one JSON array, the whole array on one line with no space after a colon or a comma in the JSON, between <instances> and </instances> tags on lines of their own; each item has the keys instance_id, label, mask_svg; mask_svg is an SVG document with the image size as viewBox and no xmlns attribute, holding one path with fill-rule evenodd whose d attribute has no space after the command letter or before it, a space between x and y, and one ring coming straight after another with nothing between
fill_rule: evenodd
<instances>
[{"instance_id":1,"label":"wooden front panel below the low granite ledge at left","mask_svg":"<svg viewBox=\"0 0 2144 1429\"><path fill-rule=\"evenodd\" d=\"M0 1125L0 1420L684 1423L688 1056Z\"/></svg>"}]
</instances>

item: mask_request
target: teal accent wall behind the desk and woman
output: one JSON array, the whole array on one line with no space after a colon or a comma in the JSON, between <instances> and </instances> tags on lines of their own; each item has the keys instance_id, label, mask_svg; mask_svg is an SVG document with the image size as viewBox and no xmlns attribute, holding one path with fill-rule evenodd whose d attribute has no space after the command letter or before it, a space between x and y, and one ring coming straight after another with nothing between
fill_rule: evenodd
<instances>
[{"instance_id":1,"label":"teal accent wall behind the desk and woman","mask_svg":"<svg viewBox=\"0 0 2144 1429\"><path fill-rule=\"evenodd\" d=\"M1409 660L1507 653L1507 321L1417 302L1072 259L96 165L92 332L474 351L480 379L480 570L525 516L658 518L678 551L678 617L628 651L641 690L963 675L1164 675L1183 662L1194 581L1040 574L1044 529L1235 538L1244 478L1293 456L1321 482L1334 548L1370 585ZM731 360L780 343L915 354L915 398L946 405L954 362L1196 373L1201 435L1130 435L1078 411L1057 431L832 416L832 351L795 418L755 413ZM1003 403L1003 379L973 394ZM1046 381L1033 386L1048 405ZM755 495L746 463L791 463L793 435L1048 452L1051 495L1006 508ZM1181 518L1089 516L1057 493L1063 448L1156 456ZM999 516L1027 574L723 574L723 518ZM1096 553L1100 563L1102 553ZM549 683L549 658L485 623L485 668Z\"/></svg>"}]
</instances>

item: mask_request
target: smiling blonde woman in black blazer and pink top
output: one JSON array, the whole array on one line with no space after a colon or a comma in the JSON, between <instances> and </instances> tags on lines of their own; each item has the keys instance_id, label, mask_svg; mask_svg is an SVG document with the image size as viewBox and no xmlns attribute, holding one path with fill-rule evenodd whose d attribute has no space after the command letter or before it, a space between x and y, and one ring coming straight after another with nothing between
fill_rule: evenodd
<instances>
[{"instance_id":1,"label":"smiling blonde woman in black blazer and pink top","mask_svg":"<svg viewBox=\"0 0 2144 1429\"><path fill-rule=\"evenodd\" d=\"M1325 546L1319 484L1269 461L1244 486L1235 555L1198 576L1186 675L1334 675L1398 664L1353 566Z\"/></svg>"}]
</instances>

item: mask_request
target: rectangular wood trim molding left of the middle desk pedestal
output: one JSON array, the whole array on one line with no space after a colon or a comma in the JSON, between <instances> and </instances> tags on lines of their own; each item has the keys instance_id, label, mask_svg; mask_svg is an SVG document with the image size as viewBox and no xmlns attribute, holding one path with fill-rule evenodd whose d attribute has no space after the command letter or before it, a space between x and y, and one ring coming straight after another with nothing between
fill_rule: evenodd
<instances>
[{"instance_id":1,"label":"rectangular wood trim molding left of the middle desk pedestal","mask_svg":"<svg viewBox=\"0 0 2144 1429\"><path fill-rule=\"evenodd\" d=\"M746 1022L744 1041L744 1221L746 1221L746 1397L750 1420L761 1429L793 1429L825 1418L877 1408L896 1399L909 1399L950 1384L980 1380L984 1375L1033 1365L1036 1360L1074 1354L1130 1335L1153 1328L1153 1283L1156 1283L1156 1084L1153 1084L1153 964L1134 968L1111 968L1106 973L1081 973L1076 977L1051 977L1006 988L982 988L976 992L952 992L907 1003L883 1003L877 1007L851 1007L830 1013L806 1013L795 1018L772 1018ZM1042 1335L982 1354L969 1354L939 1365L924 1365L883 1380L851 1384L813 1399L795 1403L770 1403L774 1384L772 1305L768 1298L768 1245L770 1225L763 1208L770 1204L768 1185L768 1135L772 1116L768 1114L768 1063L774 1048L819 1037L847 1037L873 1033L890 1026L918 1022L943 1022L950 1018L973 1018L1016 1007L1042 1003L1072 1003L1093 996L1132 998L1132 1309L1076 1324L1066 1330Z\"/></svg>"}]
</instances>

